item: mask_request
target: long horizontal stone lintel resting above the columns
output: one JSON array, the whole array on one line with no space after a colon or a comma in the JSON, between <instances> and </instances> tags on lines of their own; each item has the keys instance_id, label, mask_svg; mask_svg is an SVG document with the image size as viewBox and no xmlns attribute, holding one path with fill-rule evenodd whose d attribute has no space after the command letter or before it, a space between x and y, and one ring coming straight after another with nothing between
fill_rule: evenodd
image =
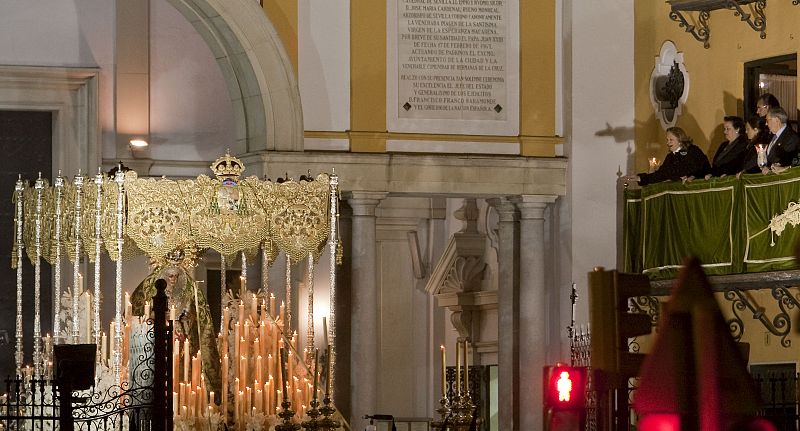
<instances>
[{"instance_id":1,"label":"long horizontal stone lintel resting above the columns","mask_svg":"<svg viewBox=\"0 0 800 431\"><path fill-rule=\"evenodd\" d=\"M343 191L471 197L566 193L564 158L271 151L239 158L253 175L335 169Z\"/></svg>"}]
</instances>

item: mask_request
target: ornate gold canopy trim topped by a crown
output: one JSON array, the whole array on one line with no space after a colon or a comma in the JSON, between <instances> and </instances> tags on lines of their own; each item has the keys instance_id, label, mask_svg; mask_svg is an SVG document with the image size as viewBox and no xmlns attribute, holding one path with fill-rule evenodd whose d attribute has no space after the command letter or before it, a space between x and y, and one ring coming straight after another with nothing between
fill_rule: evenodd
<instances>
[{"instance_id":1,"label":"ornate gold canopy trim topped by a crown","mask_svg":"<svg viewBox=\"0 0 800 431\"><path fill-rule=\"evenodd\" d=\"M124 240L122 259L145 254L163 261L175 250L187 247L202 251L213 249L225 256L239 252L255 255L260 249L274 260L283 251L299 261L309 254L318 259L330 231L330 176L302 177L300 181L262 180L255 176L240 179L245 166L226 153L212 165L216 178L200 175L191 180L139 178L125 172L124 183L104 176L99 183L85 178L81 188L81 208L76 200L78 188L65 182L61 193L62 253L74 262L76 213L80 211L81 254L95 258L96 226L99 211L102 250L116 261L116 211L123 188ZM99 181L99 180L98 180ZM98 200L98 193L100 199ZM42 190L42 256L55 259L55 192L45 183ZM37 194L26 186L23 192L23 241L28 258L35 256L35 220ZM99 202L99 207L98 207ZM86 246L89 249L86 249ZM15 249L16 251L16 249Z\"/></svg>"}]
</instances>

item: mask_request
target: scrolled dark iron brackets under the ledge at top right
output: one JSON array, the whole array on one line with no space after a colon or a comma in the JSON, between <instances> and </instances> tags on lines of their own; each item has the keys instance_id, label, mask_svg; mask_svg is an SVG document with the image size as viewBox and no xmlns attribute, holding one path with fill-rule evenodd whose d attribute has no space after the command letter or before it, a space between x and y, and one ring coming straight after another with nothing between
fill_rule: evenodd
<instances>
[{"instance_id":1,"label":"scrolled dark iron brackets under the ledge at top right","mask_svg":"<svg viewBox=\"0 0 800 431\"><path fill-rule=\"evenodd\" d=\"M800 2L800 0L797 0ZM759 32L762 39L767 37L767 18L764 15L764 8L767 7L767 0L667 0L670 5L669 18L678 23L678 27L683 28L687 33L691 33L695 39L703 42L703 47L708 48L708 39L711 29L708 27L708 19L711 11L717 9L728 9L733 11L733 15L745 21L750 27ZM793 2L794 3L794 2ZM797 3L794 3L797 4ZM748 11L745 11L747 7ZM697 25L689 22L684 13L700 12L697 18Z\"/></svg>"}]
</instances>

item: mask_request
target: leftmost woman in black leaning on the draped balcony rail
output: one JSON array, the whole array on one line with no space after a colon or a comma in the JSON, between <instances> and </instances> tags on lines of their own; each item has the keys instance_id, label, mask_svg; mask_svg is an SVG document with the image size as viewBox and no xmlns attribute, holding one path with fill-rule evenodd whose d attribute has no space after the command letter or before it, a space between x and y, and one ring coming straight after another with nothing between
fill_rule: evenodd
<instances>
[{"instance_id":1,"label":"leftmost woman in black leaning on the draped balcony rail","mask_svg":"<svg viewBox=\"0 0 800 431\"><path fill-rule=\"evenodd\" d=\"M640 185L661 181L686 180L690 177L703 177L710 169L708 157L703 150L694 145L692 138L680 127L667 129L667 148L669 153L658 170L653 173L641 173L626 177L638 181Z\"/></svg>"}]
</instances>

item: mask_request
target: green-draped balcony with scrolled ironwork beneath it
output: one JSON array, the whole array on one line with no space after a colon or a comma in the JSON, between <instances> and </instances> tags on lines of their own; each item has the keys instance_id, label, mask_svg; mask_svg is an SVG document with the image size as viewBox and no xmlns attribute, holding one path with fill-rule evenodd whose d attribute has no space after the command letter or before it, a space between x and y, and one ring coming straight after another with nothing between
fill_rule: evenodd
<instances>
[{"instance_id":1,"label":"green-draped balcony with scrolled ironwork beneath it","mask_svg":"<svg viewBox=\"0 0 800 431\"><path fill-rule=\"evenodd\" d=\"M620 189L618 268L651 279L652 296L634 308L655 324L683 258L697 256L732 335L753 346L751 360L794 360L800 169Z\"/></svg>"}]
</instances>

